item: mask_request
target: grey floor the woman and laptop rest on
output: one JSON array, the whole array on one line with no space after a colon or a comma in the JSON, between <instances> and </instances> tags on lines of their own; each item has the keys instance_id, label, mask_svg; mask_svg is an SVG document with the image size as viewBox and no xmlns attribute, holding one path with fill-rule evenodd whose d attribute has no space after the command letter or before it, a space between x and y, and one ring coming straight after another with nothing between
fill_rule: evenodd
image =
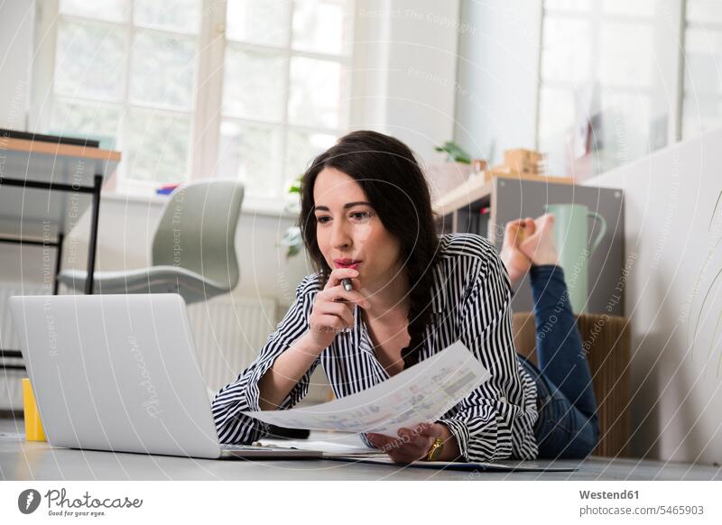
<instances>
[{"instance_id":1,"label":"grey floor the woman and laptop rest on","mask_svg":"<svg viewBox=\"0 0 722 525\"><path fill-rule=\"evenodd\" d=\"M713 466L588 458L577 472L477 473L432 471L340 461L245 461L193 459L172 456L114 454L52 448L44 442L24 441L23 420L0 419L0 480L288 480L288 481L498 481L498 480L712 480L722 479ZM310 439L329 439L311 432ZM349 441L349 443L353 443ZM360 443L360 441L358 441ZM578 461L560 461L578 465Z\"/></svg>"}]
</instances>

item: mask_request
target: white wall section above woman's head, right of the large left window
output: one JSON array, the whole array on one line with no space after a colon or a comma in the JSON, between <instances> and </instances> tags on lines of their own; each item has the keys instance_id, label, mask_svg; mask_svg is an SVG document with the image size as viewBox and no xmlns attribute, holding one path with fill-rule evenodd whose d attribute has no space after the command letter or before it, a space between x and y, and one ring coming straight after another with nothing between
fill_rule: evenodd
<instances>
[{"instance_id":1,"label":"white wall section above woman's head, right of the large left window","mask_svg":"<svg viewBox=\"0 0 722 525\"><path fill-rule=\"evenodd\" d=\"M458 0L356 2L351 127L392 134L422 160L454 133Z\"/></svg>"}]
</instances>

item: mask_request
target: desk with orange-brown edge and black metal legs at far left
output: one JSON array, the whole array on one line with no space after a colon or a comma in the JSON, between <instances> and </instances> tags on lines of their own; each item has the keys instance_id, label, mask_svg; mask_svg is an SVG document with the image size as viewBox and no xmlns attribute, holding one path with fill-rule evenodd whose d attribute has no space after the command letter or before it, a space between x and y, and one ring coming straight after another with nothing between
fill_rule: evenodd
<instances>
[{"instance_id":1,"label":"desk with orange-brown edge and black metal legs at far left","mask_svg":"<svg viewBox=\"0 0 722 525\"><path fill-rule=\"evenodd\" d=\"M85 291L93 292L100 189L118 162L120 152L0 137L0 243L55 248L53 293L58 293L63 239L88 206L92 215ZM0 350L4 357L22 355ZM0 368L24 370L22 364L2 363Z\"/></svg>"}]
</instances>

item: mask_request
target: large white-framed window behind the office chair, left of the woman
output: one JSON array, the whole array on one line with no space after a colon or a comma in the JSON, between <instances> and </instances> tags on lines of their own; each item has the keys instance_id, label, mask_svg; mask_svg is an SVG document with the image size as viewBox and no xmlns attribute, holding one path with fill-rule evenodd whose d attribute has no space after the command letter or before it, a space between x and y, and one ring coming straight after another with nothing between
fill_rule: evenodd
<instances>
[{"instance_id":1,"label":"large white-framed window behind the office chair, left of the woman","mask_svg":"<svg viewBox=\"0 0 722 525\"><path fill-rule=\"evenodd\" d=\"M119 191L218 176L277 202L346 129L352 16L350 0L43 2L35 128L121 150Z\"/></svg>"}]
</instances>

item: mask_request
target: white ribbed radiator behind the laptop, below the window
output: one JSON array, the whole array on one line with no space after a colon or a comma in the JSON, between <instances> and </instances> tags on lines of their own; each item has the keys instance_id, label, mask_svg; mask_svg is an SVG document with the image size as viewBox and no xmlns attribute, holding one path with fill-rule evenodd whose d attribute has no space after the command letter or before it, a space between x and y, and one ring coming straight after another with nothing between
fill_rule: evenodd
<instances>
[{"instance_id":1,"label":"white ribbed radiator behind the laptop, below the window","mask_svg":"<svg viewBox=\"0 0 722 525\"><path fill-rule=\"evenodd\" d=\"M20 349L12 327L7 299L13 295L39 295L47 288L21 288L17 282L0 282L0 348ZM221 296L188 307L199 364L209 394L231 382L255 359L276 319L274 299ZM24 371L0 371L0 410L23 410L21 379Z\"/></svg>"}]
</instances>

